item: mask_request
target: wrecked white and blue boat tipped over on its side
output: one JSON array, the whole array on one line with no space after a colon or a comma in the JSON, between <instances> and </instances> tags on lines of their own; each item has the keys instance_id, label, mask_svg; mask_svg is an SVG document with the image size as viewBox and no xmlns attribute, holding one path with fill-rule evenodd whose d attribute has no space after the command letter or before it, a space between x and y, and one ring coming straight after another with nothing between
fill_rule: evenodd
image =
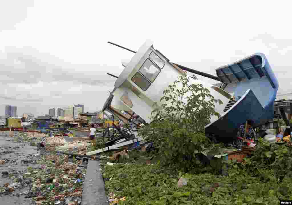
<instances>
[{"instance_id":1,"label":"wrecked white and blue boat tipped over on its side","mask_svg":"<svg viewBox=\"0 0 292 205\"><path fill-rule=\"evenodd\" d=\"M117 77L102 111L114 114L124 123L133 124L137 118L134 123L137 126L139 123L151 123L151 112L165 103L160 102L163 91L178 76L185 76L185 71L188 71L187 75L196 73L221 82L220 86L215 86L198 79L190 80L190 83L202 84L215 99L223 102L215 104L215 111L221 117L211 116L211 122L205 126L208 136L221 141L235 138L237 128L247 119L253 119L254 126L257 126L274 114L273 102L279 85L265 55L261 53L217 68L216 77L171 63L154 49L152 41L147 40L131 61L122 65L125 68Z\"/></svg>"}]
</instances>

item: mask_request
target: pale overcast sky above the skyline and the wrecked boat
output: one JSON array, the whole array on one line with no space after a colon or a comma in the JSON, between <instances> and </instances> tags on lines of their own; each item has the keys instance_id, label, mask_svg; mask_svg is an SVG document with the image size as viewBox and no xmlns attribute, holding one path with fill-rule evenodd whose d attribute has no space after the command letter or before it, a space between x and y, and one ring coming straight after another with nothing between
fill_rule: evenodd
<instances>
[{"instance_id":1,"label":"pale overcast sky above the skyline and the wrecked boat","mask_svg":"<svg viewBox=\"0 0 292 205\"><path fill-rule=\"evenodd\" d=\"M0 115L48 114L84 104L102 108L122 61L146 39L170 61L212 75L262 52L290 86L291 5L268 1L0 1ZM217 81L199 77L210 83Z\"/></svg>"}]
</instances>

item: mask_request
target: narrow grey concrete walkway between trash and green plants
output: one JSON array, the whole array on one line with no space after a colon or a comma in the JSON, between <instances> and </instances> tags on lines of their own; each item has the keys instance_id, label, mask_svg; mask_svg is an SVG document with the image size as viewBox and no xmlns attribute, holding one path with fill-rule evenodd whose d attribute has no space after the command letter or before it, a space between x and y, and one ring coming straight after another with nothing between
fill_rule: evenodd
<instances>
[{"instance_id":1,"label":"narrow grey concrete walkway between trash and green plants","mask_svg":"<svg viewBox=\"0 0 292 205\"><path fill-rule=\"evenodd\" d=\"M88 160L81 205L109 205L105 195L100 161Z\"/></svg>"}]
</instances>

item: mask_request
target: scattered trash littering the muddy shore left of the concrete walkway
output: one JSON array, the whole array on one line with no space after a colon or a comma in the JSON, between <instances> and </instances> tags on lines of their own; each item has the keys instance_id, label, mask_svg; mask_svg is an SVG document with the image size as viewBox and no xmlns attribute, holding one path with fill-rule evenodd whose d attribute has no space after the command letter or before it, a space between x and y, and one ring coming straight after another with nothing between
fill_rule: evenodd
<instances>
[{"instance_id":1,"label":"scattered trash littering the muddy shore left of the concrete walkway","mask_svg":"<svg viewBox=\"0 0 292 205\"><path fill-rule=\"evenodd\" d=\"M65 145L64 138L47 136L44 133L19 132L18 142L15 143L21 142L21 145L0 148L0 154L7 154L7 158L0 160L2 178L7 177L9 180L9 183L0 185L0 193L16 197L24 195L25 198L32 198L33 204L48 204L50 202L50 204L65 205L65 200L69 199L67 204L80 205L82 182L88 159L84 160L85 164L79 164L82 163L81 159L84 157L74 156L69 163L68 155L61 153L56 155L55 152L52 152L55 147ZM46 149L39 150L36 154L25 154L21 148L25 146L25 143L29 145L32 141L45 142ZM17 152L11 149L17 150ZM65 152L72 151L73 154L84 155L88 150L87 147L81 146ZM8 154L11 153L15 153L17 157L13 159L10 156L9 158ZM15 170L8 169L8 166L15 166ZM22 170L23 166L25 170ZM25 187L29 190L16 193L16 190L22 190Z\"/></svg>"}]
</instances>

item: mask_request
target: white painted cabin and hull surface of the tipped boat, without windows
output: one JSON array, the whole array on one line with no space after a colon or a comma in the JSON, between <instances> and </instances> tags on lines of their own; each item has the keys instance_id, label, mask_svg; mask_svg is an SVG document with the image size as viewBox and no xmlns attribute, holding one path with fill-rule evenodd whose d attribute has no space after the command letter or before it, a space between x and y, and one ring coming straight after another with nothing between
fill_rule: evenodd
<instances>
[{"instance_id":1,"label":"white painted cabin and hull surface of the tipped boat, without windows","mask_svg":"<svg viewBox=\"0 0 292 205\"><path fill-rule=\"evenodd\" d=\"M128 64L126 63L124 64L124 66L126 67L115 83L115 86L118 86L118 87L113 92L114 99L112 101L112 106L114 108L117 108L120 110L127 110L126 109L127 107L128 110L129 109L133 110L141 118L143 118L147 123L151 122L150 118L151 118L151 112L154 110L154 103L157 103L159 107L163 103L163 102L160 102L160 99L163 96L163 91L167 89L169 85L172 85L175 80L178 80L179 76L183 76L183 73L179 72L179 70L173 67L173 65L171 65L168 61L166 61L166 59L163 56L161 56L158 52L155 51L151 43L152 42L150 41L145 42L145 44L143 44L140 47L139 52L137 52L133 56L131 61ZM157 56L163 59L165 61L165 65L161 69L160 73L158 74L154 82L151 83L150 87L148 87L148 89L144 91L138 85L136 85L131 80L131 78L135 75L135 73L139 72L140 67L149 57L151 52L154 52ZM125 75L128 75L128 76L126 77ZM220 105L219 103L215 104L215 110L222 115L223 109L225 108L229 99L227 99L225 96L223 96L219 92L212 89L211 86L213 85L207 84L200 80L194 80L194 79L191 79L190 82L194 84L202 84L204 87L206 87L210 91L210 94L215 99L220 99L221 101L223 101L222 105ZM139 96L137 96L137 94L131 90L132 89L131 87L135 87L135 89L137 89L138 92L140 92ZM178 85L178 89L180 87L182 87L182 85ZM128 97L133 103L133 107L131 108L120 101L121 96L125 92L128 92ZM184 99L184 101L186 101L186 99ZM215 116L211 116L211 121L215 121L216 119L218 118Z\"/></svg>"}]
</instances>

